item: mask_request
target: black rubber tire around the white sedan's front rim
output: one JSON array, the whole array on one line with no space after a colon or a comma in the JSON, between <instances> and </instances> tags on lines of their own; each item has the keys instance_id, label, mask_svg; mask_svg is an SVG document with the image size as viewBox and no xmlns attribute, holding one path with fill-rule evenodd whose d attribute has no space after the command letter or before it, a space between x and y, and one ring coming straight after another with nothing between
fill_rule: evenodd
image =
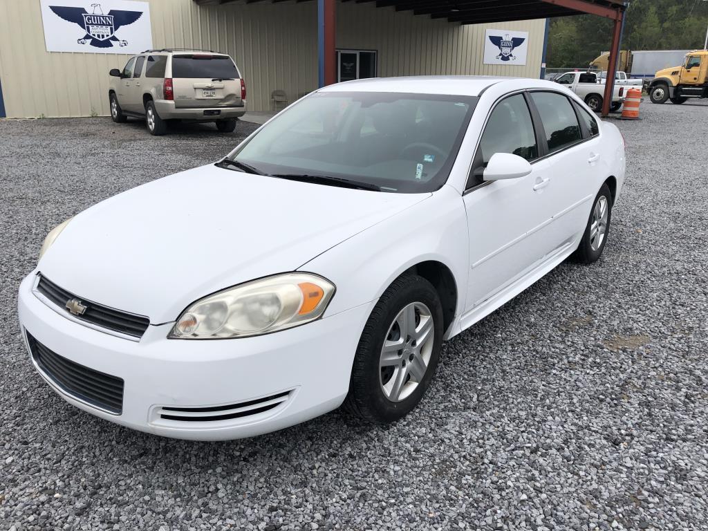
<instances>
[{"instance_id":1,"label":"black rubber tire around the white sedan's front rim","mask_svg":"<svg viewBox=\"0 0 708 531\"><path fill-rule=\"evenodd\" d=\"M393 372L399 371L401 368L396 361L396 367L382 369L379 367L379 361L384 340L392 337L389 336L389 331L392 334L396 331L397 324L394 323L396 316L401 313L402 309L412 303L422 303L430 310L430 316L433 318L434 334L433 338L429 340L432 342L432 350L430 350L428 366L421 381L413 387L412 392L405 396L404 399L392 401L384 394L382 385L393 378L393 375L391 375L389 380L384 380L387 377L387 370L390 369ZM420 319L420 316L416 314L416 323L420 322L418 319ZM440 349L442 348L443 332L442 305L435 287L428 280L418 275L405 275L396 279L381 296L364 327L354 358L349 394L344 401L343 409L371 423L395 422L410 413L423 398L430 379L435 373L435 367L437 367L438 359L440 358ZM392 341L397 339L392 338ZM409 347L408 345L412 346ZM409 364L406 371L411 370L413 365L415 365L411 363L413 355L410 354L410 348L414 347L415 342L411 344L406 341L405 348L408 350L401 348L397 354L394 354L401 356L403 367L406 367L406 363ZM409 358L409 355L411 355L411 358ZM406 358L409 359L406 360ZM397 375L398 372L395 374ZM403 381L406 382L404 385L408 385L409 382L414 383L413 380L415 378L411 379L410 376L406 376L408 374L408 372L404 373Z\"/></svg>"}]
</instances>

